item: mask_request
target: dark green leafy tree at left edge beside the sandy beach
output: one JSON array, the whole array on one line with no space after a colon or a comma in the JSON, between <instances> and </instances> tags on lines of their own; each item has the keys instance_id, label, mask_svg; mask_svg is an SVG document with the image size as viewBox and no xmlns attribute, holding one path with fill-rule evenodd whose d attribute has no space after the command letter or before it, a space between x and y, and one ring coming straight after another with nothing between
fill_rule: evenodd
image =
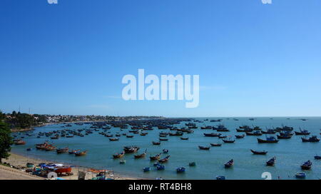
<instances>
[{"instance_id":1,"label":"dark green leafy tree at left edge beside the sandy beach","mask_svg":"<svg viewBox=\"0 0 321 194\"><path fill-rule=\"evenodd\" d=\"M13 141L9 126L3 121L0 121L0 163L2 158L9 157L12 144Z\"/></svg>"}]
</instances>

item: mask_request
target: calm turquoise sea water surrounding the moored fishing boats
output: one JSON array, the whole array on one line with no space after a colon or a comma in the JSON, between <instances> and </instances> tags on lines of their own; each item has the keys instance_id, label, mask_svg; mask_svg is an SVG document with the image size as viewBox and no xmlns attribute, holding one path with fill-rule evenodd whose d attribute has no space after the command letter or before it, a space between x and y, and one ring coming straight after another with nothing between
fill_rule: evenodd
<instances>
[{"instance_id":1,"label":"calm turquoise sea water surrounding the moored fishing boats","mask_svg":"<svg viewBox=\"0 0 321 194\"><path fill-rule=\"evenodd\" d=\"M197 118L205 120L205 118ZM218 119L218 118L208 118ZM265 130L265 127L272 128L277 126L292 126L294 131L299 131L299 128L307 129L312 135L320 137L321 118L307 118L307 121L301 121L298 118L256 118L255 121L250 121L248 118L238 118L239 121L234 121L223 118L220 122L230 129L230 132L220 132L228 136L234 136L237 133L235 128L238 126L260 126ZM219 123L197 123L197 126L216 126ZM221 147L211 147L210 150L199 150L198 146L209 146L210 143L218 143L218 138L204 137L203 133L216 133L213 130L193 129L194 133L184 134L189 137L188 141L180 140L180 137L168 136L169 141L162 141L161 146L153 146L151 141L158 141L158 134L161 131L155 128L148 132L147 136L139 136L135 134L134 138L126 138L121 136L120 141L109 141L108 138L101 136L98 132L93 132L85 137L74 138L59 138L58 140L50 140L46 137L36 138L39 131L54 131L61 130L62 124L44 126L36 128L35 136L25 137L25 146L14 146L12 151L29 157L53 160L56 162L72 163L96 169L114 170L116 173L123 175L131 175L138 178L158 178L165 179L215 179L216 175L225 175L228 179L261 179L263 172L270 172L273 179L280 177L281 179L295 179L294 175L301 172L301 163L306 160L312 160L312 170L305 170L307 179L321 178L321 160L314 160L314 155L321 155L320 143L302 143L302 136L293 136L289 140L280 140L279 143L261 143L259 144L256 136L246 136L243 139L237 139L235 143L223 143ZM90 128L91 125L69 127L70 129ZM176 126L185 126L185 122ZM126 130L120 131L119 128L112 128L111 133L125 133ZM173 131L172 131L173 132ZM270 136L270 135L268 135ZM265 135L261 136L265 138ZM31 150L26 151L26 148L35 148L36 143L43 143L49 140L58 148L68 146L71 149L88 150L86 156L76 157L74 155L56 154L54 151ZM122 160L126 160L126 164L119 164L119 159L114 160L112 155L121 152L123 146L136 145L141 147L138 153L143 153L147 148L148 155L146 158L134 159L134 154L125 155ZM153 162L149 160L150 155L161 153L166 148L169 150L170 160L165 163L164 171L157 171L153 168ZM267 150L267 155L253 155L250 149ZM166 154L162 155L162 158ZM267 167L265 162L276 156L277 163L273 167ZM235 160L233 168L225 169L224 163L230 159ZM188 163L196 163L195 167L189 167ZM148 173L143 173L143 168L151 166L152 170ZM185 167L186 172L177 174L175 169Z\"/></svg>"}]
</instances>

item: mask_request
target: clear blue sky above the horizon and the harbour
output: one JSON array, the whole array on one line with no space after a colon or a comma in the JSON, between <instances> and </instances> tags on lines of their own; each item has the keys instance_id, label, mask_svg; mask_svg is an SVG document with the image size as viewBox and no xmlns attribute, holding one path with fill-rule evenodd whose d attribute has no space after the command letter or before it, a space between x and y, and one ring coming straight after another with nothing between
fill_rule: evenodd
<instances>
[{"instance_id":1,"label":"clear blue sky above the horizon and the harbour","mask_svg":"<svg viewBox=\"0 0 321 194\"><path fill-rule=\"evenodd\" d=\"M0 109L321 116L321 1L2 0ZM200 105L123 101L121 78L199 74Z\"/></svg>"}]
</instances>

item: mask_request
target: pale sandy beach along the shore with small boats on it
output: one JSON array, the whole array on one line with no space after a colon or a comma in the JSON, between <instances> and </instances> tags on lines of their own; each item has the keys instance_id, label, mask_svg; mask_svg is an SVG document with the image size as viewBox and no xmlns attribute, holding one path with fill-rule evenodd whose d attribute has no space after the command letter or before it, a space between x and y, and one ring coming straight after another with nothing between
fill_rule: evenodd
<instances>
[{"instance_id":1,"label":"pale sandy beach along the shore with small boats on it","mask_svg":"<svg viewBox=\"0 0 321 194\"><path fill-rule=\"evenodd\" d=\"M46 160L40 160L36 158L29 158L23 155L18 155L15 153L10 153L8 159L2 159L3 163L8 163L11 165L12 168L0 165L0 180L44 180L46 178L42 178L36 175L31 175L31 173L26 173L26 163L52 163ZM99 169L101 170L101 169ZM65 180L78 180L78 172L85 172L86 173L86 180L96 177L96 173L93 173L90 168L84 167L74 167L72 170L73 175L69 176L62 176L61 178ZM108 171L107 178L115 179L115 180L137 180L138 178L128 177L128 176L121 176L113 173L113 171Z\"/></svg>"}]
</instances>

